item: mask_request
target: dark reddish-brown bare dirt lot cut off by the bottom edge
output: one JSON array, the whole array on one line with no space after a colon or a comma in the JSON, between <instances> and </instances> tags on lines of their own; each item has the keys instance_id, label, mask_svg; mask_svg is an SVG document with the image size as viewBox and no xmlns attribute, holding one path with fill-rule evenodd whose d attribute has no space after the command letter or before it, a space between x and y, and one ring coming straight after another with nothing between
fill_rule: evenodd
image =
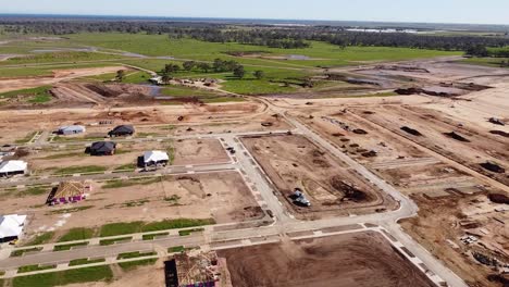
<instances>
[{"instance_id":1,"label":"dark reddish-brown bare dirt lot cut off by the bottom edge","mask_svg":"<svg viewBox=\"0 0 509 287\"><path fill-rule=\"evenodd\" d=\"M380 234L358 233L218 252L236 287L434 286Z\"/></svg>"}]
</instances>

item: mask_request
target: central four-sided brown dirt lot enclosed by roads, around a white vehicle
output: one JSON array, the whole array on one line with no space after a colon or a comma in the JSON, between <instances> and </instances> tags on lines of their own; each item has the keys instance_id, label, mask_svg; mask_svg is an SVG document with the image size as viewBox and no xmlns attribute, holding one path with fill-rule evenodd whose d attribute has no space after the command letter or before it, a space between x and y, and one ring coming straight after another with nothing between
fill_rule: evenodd
<instances>
[{"instance_id":1,"label":"central four-sided brown dirt lot enclosed by roads, around a white vehicle","mask_svg":"<svg viewBox=\"0 0 509 287\"><path fill-rule=\"evenodd\" d=\"M395 207L394 200L306 137L244 137L241 141L280 190L278 196L298 216L312 219ZM311 207L294 202L295 188L303 190Z\"/></svg>"}]
</instances>

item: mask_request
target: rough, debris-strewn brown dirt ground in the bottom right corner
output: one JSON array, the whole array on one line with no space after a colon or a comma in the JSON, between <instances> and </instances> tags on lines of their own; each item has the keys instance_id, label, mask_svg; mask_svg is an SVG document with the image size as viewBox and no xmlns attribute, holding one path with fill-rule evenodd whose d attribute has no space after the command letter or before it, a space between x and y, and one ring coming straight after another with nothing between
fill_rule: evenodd
<instances>
[{"instance_id":1,"label":"rough, debris-strewn brown dirt ground in the bottom right corner","mask_svg":"<svg viewBox=\"0 0 509 287\"><path fill-rule=\"evenodd\" d=\"M489 202L486 195L434 200L414 196L412 199L419 204L419 216L401 222L408 234L470 286L504 286L488 280L487 276L497 272L473 258L473 252L480 252L509 262L509 230L504 224L509 216L495 211L504 208L502 204ZM460 240L465 235L474 235L480 240L465 245Z\"/></svg>"}]
</instances>

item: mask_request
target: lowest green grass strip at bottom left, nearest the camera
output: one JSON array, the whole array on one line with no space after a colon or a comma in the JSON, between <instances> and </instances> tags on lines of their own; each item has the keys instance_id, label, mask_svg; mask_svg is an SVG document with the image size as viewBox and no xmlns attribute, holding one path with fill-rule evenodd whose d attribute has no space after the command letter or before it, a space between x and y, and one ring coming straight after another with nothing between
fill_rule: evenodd
<instances>
[{"instance_id":1,"label":"lowest green grass strip at bottom left, nearest the camera","mask_svg":"<svg viewBox=\"0 0 509 287\"><path fill-rule=\"evenodd\" d=\"M44 274L15 277L12 280L13 287L53 287L88 282L111 282L113 272L108 265L50 272Z\"/></svg>"}]
</instances>

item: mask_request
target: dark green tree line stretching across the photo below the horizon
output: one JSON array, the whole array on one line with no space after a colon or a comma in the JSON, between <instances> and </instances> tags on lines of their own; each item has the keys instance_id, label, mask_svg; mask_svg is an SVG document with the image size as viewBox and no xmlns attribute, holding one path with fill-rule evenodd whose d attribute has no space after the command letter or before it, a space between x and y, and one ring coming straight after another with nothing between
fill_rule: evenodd
<instances>
[{"instance_id":1,"label":"dark green tree line stretching across the photo below the horizon","mask_svg":"<svg viewBox=\"0 0 509 287\"><path fill-rule=\"evenodd\" d=\"M509 38L481 36L437 36L406 33L351 32L338 26L275 27L269 25L227 25L211 23L142 21L0 20L5 33L67 35L76 33L145 33L169 35L172 39L191 38L209 42L239 42L283 49L310 47L324 41L339 47L382 46L447 51L469 51L475 47L506 47ZM507 51L491 52L494 57ZM488 53L488 55L491 55Z\"/></svg>"}]
</instances>

